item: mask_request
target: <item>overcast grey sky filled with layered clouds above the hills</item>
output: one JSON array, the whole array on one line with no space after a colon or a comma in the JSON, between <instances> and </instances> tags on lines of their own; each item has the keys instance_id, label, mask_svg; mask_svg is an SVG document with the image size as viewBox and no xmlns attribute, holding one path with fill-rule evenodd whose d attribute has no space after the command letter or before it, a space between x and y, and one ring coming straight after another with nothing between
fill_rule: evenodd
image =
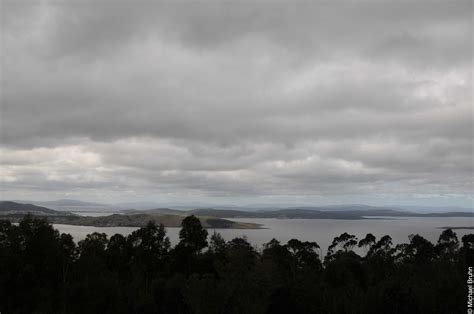
<instances>
[{"instance_id":1,"label":"overcast grey sky filled with layered clouds above the hills","mask_svg":"<svg viewBox=\"0 0 474 314\"><path fill-rule=\"evenodd\" d=\"M473 204L472 1L5 1L2 199Z\"/></svg>"}]
</instances>

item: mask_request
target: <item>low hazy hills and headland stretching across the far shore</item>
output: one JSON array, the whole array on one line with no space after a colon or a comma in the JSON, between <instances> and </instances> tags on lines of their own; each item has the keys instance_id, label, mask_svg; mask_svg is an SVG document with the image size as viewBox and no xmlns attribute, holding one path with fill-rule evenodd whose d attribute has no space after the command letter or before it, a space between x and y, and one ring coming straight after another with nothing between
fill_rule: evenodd
<instances>
[{"instance_id":1,"label":"low hazy hills and headland stretching across the far shore","mask_svg":"<svg viewBox=\"0 0 474 314\"><path fill-rule=\"evenodd\" d=\"M75 201L64 200L51 202L52 204L69 203L79 204ZM383 207L365 205L338 206L336 210L324 207L286 208L276 210L244 211L232 209L200 208L194 210L178 210L172 208L155 208L148 210L127 209L116 211L113 214L100 217L79 216L67 211L57 211L47 207L17 202L0 202L0 218L18 221L24 215L31 213L37 216L47 216L51 223L96 226L96 227L142 227L148 221L161 223L165 227L179 227L184 217L197 216L205 228L233 228L253 229L260 225L254 223L235 222L232 218L278 218L278 219L373 219L374 217L470 217L471 212L442 212L442 213L414 213L404 210L394 210Z\"/></svg>"}]
</instances>

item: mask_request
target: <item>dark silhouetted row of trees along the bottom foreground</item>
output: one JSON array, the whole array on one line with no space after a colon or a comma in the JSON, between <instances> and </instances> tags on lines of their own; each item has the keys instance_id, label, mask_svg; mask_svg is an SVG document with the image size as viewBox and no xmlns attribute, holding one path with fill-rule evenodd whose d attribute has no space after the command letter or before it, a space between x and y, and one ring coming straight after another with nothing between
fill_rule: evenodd
<instances>
[{"instance_id":1,"label":"dark silhouetted row of trees along the bottom foreground","mask_svg":"<svg viewBox=\"0 0 474 314\"><path fill-rule=\"evenodd\" d=\"M343 233L316 242L225 241L186 217L172 247L162 225L77 244L46 219L0 220L1 313L462 313L474 234ZM359 255L354 249L359 247ZM472 264L471 264L472 266Z\"/></svg>"}]
</instances>

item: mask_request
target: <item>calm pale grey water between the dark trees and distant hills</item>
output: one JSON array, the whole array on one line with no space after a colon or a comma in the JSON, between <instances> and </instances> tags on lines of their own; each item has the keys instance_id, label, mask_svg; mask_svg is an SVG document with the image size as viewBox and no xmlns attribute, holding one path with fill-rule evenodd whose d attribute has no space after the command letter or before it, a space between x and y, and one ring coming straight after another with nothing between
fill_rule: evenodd
<instances>
[{"instance_id":1,"label":"calm pale grey water between the dark trees and distant hills","mask_svg":"<svg viewBox=\"0 0 474 314\"><path fill-rule=\"evenodd\" d=\"M388 218L388 217L384 217ZM371 220L335 220L335 219L232 219L242 222L253 222L263 225L265 229L242 230L242 229L209 229L209 234L214 231L219 232L224 239L231 240L235 237L246 236L248 241L254 246L261 247L275 238L286 243L292 238L302 241L316 241L325 254L327 247L332 240L343 232L356 235L359 239L365 234L372 233L377 238L383 235L390 235L393 243L406 243L408 236L418 233L431 242L438 240L443 226L474 226L472 218L420 218L420 217L390 217L391 219L371 219ZM137 228L135 227L84 227L70 225L54 225L60 232L70 233L75 241L82 240L87 234L92 232L104 232L108 236L116 233L128 235ZM172 244L179 240L180 228L167 228L167 234ZM460 239L463 235L474 233L474 230L455 230Z\"/></svg>"}]
</instances>

